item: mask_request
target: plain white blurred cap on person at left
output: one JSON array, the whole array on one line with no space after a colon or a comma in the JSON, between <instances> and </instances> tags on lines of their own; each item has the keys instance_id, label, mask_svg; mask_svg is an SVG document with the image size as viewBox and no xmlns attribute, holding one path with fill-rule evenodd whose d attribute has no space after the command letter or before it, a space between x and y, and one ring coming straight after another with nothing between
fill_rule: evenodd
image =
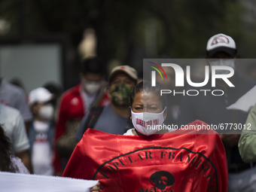
<instances>
[{"instance_id":1,"label":"plain white blurred cap on person at left","mask_svg":"<svg viewBox=\"0 0 256 192\"><path fill-rule=\"evenodd\" d=\"M32 106L35 102L49 102L51 99L53 99L53 94L49 90L38 87L29 93L29 106Z\"/></svg>"}]
</instances>

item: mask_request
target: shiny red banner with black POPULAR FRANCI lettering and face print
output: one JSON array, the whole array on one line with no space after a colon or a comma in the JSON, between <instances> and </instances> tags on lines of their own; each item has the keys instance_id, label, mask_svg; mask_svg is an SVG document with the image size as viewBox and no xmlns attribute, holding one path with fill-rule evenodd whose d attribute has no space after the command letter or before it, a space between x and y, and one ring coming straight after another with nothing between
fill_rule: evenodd
<instances>
[{"instance_id":1,"label":"shiny red banner with black POPULAR FRANCI lettering and face print","mask_svg":"<svg viewBox=\"0 0 256 192\"><path fill-rule=\"evenodd\" d=\"M89 129L63 176L99 180L104 192L227 191L227 160L213 130L120 136Z\"/></svg>"}]
</instances>

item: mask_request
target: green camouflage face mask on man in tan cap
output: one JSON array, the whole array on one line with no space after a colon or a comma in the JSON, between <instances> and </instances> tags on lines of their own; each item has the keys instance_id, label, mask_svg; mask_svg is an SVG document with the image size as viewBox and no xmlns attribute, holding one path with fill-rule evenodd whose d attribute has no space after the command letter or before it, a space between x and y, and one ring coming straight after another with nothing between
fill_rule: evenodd
<instances>
[{"instance_id":1,"label":"green camouflage face mask on man in tan cap","mask_svg":"<svg viewBox=\"0 0 256 192\"><path fill-rule=\"evenodd\" d=\"M128 106L129 105L129 96L132 93L133 87L130 87L126 84L116 84L113 87L110 87L110 96L111 102L114 105L119 106Z\"/></svg>"}]
</instances>

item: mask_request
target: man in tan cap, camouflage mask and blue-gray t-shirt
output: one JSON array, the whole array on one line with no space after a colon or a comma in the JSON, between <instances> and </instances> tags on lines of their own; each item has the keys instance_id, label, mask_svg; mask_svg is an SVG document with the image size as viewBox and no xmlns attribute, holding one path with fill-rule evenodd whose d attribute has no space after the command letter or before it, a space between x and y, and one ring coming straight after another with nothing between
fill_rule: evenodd
<instances>
[{"instance_id":1,"label":"man in tan cap, camouflage mask and blue-gray t-shirt","mask_svg":"<svg viewBox=\"0 0 256 192\"><path fill-rule=\"evenodd\" d=\"M130 66L112 69L107 88L110 104L91 108L90 113L81 121L76 138L80 140L88 128L123 135L126 124L130 122L129 96L137 80L137 72Z\"/></svg>"}]
</instances>

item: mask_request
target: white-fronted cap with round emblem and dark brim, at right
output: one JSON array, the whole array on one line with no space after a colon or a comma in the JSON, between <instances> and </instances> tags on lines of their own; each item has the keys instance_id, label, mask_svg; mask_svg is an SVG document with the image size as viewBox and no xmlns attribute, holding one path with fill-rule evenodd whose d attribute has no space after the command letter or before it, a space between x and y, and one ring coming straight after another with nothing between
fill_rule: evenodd
<instances>
[{"instance_id":1,"label":"white-fronted cap with round emblem and dark brim, at right","mask_svg":"<svg viewBox=\"0 0 256 192\"><path fill-rule=\"evenodd\" d=\"M213 56L219 51L224 51L230 55L236 54L236 43L233 38L222 33L209 38L206 46L207 56Z\"/></svg>"}]
</instances>

